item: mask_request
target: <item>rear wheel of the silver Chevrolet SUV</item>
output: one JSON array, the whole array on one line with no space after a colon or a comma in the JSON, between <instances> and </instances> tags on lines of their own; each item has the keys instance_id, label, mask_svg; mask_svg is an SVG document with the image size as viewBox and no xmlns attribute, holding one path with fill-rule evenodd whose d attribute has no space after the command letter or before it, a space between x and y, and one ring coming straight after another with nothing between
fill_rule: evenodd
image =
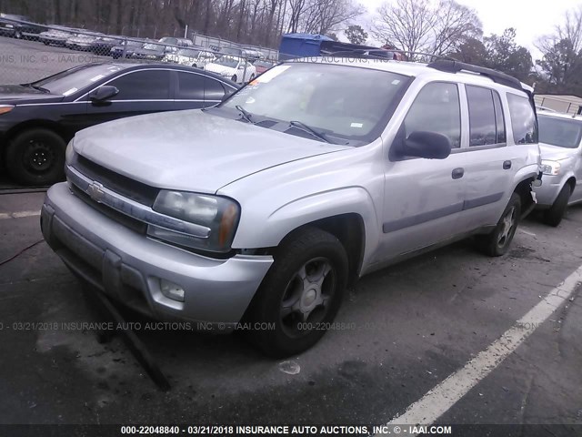
<instances>
[{"instance_id":1,"label":"rear wheel of the silver Chevrolet SUV","mask_svg":"<svg viewBox=\"0 0 582 437\"><path fill-rule=\"evenodd\" d=\"M513 193L507 207L497 222L497 226L487 235L477 236L477 246L490 257L500 257L507 253L521 215L521 198ZM508 228L507 228L508 227Z\"/></svg>"}]
</instances>

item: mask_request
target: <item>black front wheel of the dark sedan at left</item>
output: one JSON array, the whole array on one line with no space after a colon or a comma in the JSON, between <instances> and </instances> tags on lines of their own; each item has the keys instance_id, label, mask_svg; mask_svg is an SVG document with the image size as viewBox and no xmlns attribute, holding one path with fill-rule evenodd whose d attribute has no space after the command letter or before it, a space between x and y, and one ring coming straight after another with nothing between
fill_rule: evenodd
<instances>
[{"instance_id":1,"label":"black front wheel of the dark sedan at left","mask_svg":"<svg viewBox=\"0 0 582 437\"><path fill-rule=\"evenodd\" d=\"M10 140L6 169L15 181L27 186L54 184L65 177L65 140L55 132L35 127Z\"/></svg>"}]
</instances>

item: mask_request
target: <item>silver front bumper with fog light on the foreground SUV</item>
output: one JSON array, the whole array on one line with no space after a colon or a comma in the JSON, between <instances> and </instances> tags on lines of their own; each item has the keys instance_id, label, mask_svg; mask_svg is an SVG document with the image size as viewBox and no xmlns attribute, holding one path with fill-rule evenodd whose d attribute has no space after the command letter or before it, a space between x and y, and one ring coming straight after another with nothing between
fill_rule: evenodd
<instances>
[{"instance_id":1,"label":"silver front bumper with fog light on the foreground SUV","mask_svg":"<svg viewBox=\"0 0 582 437\"><path fill-rule=\"evenodd\" d=\"M148 239L87 205L66 183L46 193L41 227L65 264L111 299L158 320L225 332L241 320L273 263L270 256L210 259ZM162 294L159 279L182 287L185 300Z\"/></svg>"}]
</instances>

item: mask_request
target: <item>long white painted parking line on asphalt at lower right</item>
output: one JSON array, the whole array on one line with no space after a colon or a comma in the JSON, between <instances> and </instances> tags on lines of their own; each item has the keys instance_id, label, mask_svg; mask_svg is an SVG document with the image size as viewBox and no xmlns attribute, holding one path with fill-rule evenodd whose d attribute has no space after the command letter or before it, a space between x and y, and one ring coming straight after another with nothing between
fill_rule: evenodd
<instances>
[{"instance_id":1,"label":"long white painted parking line on asphalt at lower right","mask_svg":"<svg viewBox=\"0 0 582 437\"><path fill-rule=\"evenodd\" d=\"M542 322L567 301L577 285L582 281L582 266L567 277L564 282L547 294L546 298L529 310L516 324L494 341L485 351L468 361L463 369L449 375L420 400L410 405L406 412L396 416L387 425L430 424L447 412L469 390L493 371L501 361L516 351L517 347L537 329ZM385 434L376 434L385 435ZM414 434L408 434L414 435Z\"/></svg>"}]
</instances>

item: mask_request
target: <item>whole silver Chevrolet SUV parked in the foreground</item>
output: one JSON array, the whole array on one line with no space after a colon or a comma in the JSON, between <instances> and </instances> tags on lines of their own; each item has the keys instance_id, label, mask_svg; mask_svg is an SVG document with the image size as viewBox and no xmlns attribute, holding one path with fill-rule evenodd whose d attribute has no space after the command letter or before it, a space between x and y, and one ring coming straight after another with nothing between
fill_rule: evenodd
<instances>
[{"instance_id":1,"label":"whole silver Chevrolet SUV parked in the foreground","mask_svg":"<svg viewBox=\"0 0 582 437\"><path fill-rule=\"evenodd\" d=\"M215 108L77 133L42 229L111 299L285 356L371 271L468 236L504 254L539 165L530 90L510 76L317 58Z\"/></svg>"}]
</instances>

